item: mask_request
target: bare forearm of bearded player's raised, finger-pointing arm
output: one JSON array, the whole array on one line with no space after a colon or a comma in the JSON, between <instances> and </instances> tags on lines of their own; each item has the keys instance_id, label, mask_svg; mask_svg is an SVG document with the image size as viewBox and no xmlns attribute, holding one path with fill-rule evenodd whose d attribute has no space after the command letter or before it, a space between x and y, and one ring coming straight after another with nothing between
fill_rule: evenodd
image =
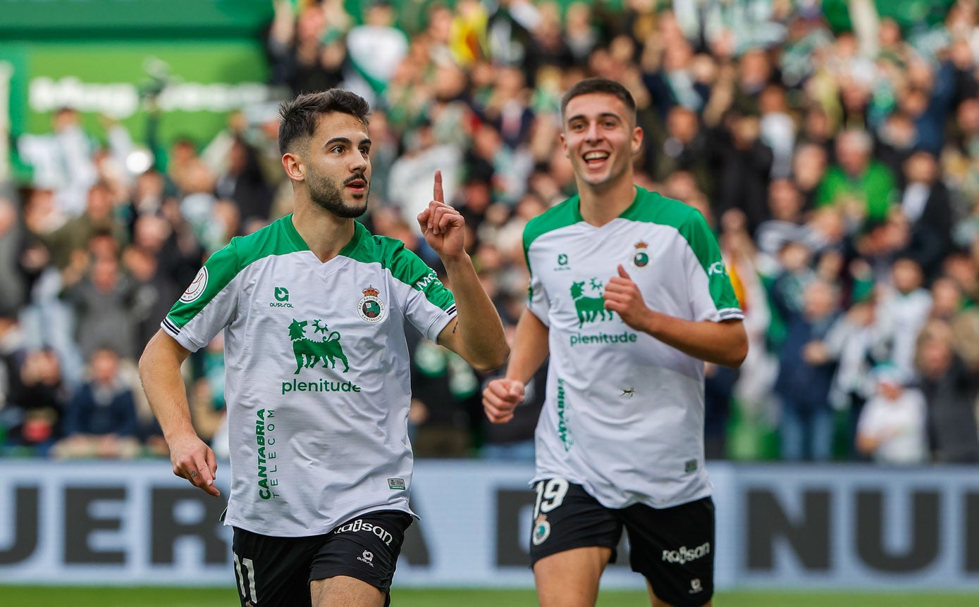
<instances>
[{"instance_id":1,"label":"bare forearm of bearded player's raised, finger-pointing arm","mask_svg":"<svg viewBox=\"0 0 979 607\"><path fill-rule=\"evenodd\" d=\"M465 348L463 358L475 369L502 367L510 354L496 308L476 275L469 255L443 259L452 293L455 295L457 326ZM463 353L459 353L463 354Z\"/></svg>"}]
</instances>

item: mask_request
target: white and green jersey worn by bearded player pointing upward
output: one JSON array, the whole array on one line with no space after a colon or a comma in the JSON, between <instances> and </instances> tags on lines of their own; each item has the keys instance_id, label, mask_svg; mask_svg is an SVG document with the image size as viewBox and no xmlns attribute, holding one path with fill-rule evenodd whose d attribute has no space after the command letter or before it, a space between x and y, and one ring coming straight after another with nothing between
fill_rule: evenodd
<instances>
[{"instance_id":1,"label":"white and green jersey worn by bearded player pointing upward","mask_svg":"<svg viewBox=\"0 0 979 607\"><path fill-rule=\"evenodd\" d=\"M226 524L297 537L371 510L411 512L404 323L435 340L455 304L399 240L355 226L326 263L292 215L233 238L163 320L191 351L224 329Z\"/></svg>"}]
</instances>

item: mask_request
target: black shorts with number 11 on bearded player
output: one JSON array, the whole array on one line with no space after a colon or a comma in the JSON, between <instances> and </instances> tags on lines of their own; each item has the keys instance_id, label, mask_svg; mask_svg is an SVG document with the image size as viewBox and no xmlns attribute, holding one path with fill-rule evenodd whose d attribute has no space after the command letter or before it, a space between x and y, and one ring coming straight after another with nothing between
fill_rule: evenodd
<instances>
[{"instance_id":1,"label":"black shorts with number 11 on bearded player","mask_svg":"<svg viewBox=\"0 0 979 607\"><path fill-rule=\"evenodd\" d=\"M242 607L310 605L309 583L349 576L373 585L391 603L391 580L411 515L379 510L322 536L278 538L234 528L235 579Z\"/></svg>"}]
</instances>

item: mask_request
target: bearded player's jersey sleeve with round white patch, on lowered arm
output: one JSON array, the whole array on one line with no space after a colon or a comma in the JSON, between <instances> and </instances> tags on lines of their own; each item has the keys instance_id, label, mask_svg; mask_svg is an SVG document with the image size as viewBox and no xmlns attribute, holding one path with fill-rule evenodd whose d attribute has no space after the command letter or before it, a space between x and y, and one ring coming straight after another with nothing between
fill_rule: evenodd
<instances>
[{"instance_id":1,"label":"bearded player's jersey sleeve with round white patch, on lowered arm","mask_svg":"<svg viewBox=\"0 0 979 607\"><path fill-rule=\"evenodd\" d=\"M191 352L197 352L229 325L238 307L236 242L210 256L160 324Z\"/></svg>"}]
</instances>

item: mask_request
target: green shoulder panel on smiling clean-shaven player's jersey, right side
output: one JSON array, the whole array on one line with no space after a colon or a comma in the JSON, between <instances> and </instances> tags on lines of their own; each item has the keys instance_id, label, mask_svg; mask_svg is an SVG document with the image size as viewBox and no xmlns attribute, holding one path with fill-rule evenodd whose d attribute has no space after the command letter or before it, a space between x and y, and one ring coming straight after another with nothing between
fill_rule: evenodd
<instances>
[{"instance_id":1,"label":"green shoulder panel on smiling clean-shaven player's jersey, right side","mask_svg":"<svg viewBox=\"0 0 979 607\"><path fill-rule=\"evenodd\" d=\"M623 218L675 228L697 257L718 310L740 308L721 257L721 247L700 211L679 200L639 188L635 203Z\"/></svg>"}]
</instances>

